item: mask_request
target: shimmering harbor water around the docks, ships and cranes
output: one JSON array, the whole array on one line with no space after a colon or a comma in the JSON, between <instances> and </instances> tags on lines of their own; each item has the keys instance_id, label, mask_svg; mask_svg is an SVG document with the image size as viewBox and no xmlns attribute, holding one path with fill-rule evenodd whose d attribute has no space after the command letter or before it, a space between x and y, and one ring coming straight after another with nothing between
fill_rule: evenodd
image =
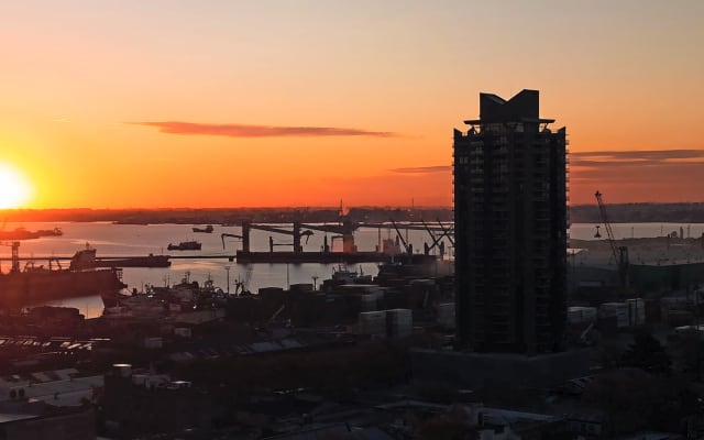
<instances>
[{"instance_id":1,"label":"shimmering harbor water around the docks, ships and cranes","mask_svg":"<svg viewBox=\"0 0 704 440\"><path fill-rule=\"evenodd\" d=\"M44 237L35 240L22 241L20 256L26 257L69 257L75 252L85 249L86 245L97 249L97 256L144 256L152 254L170 254L186 256L185 258L173 258L170 267L164 268L124 268L123 282L128 289L136 288L143 290L146 285L172 285L188 276L190 280L204 283L212 279L215 285L223 290L234 292L235 282L246 282L249 289L253 293L261 287L287 287L290 284L309 283L320 284L322 279L329 278L337 264L238 264L229 261L228 256L235 254L241 249L242 243L233 238L224 237L222 233L241 234L240 227L213 226L212 233L193 232L191 224L113 224L110 222L65 222L65 223L7 223L6 230L14 228L26 228L28 230L53 229L58 227L64 234L59 237ZM679 223L616 223L613 224L616 239L625 238L649 238L662 237L676 232L684 233L684 237L698 238L704 233L704 223L679 224ZM572 224L570 237L579 240L595 240L596 224L579 223ZM424 243L432 243L432 239L426 231L400 229L403 239L413 244L416 252L422 252ZM603 226L602 238L606 237ZM396 231L389 229L366 229L361 228L355 232L355 243L359 251L374 251L380 242L385 239L396 239ZM275 251L290 250L290 235L272 234L265 231L253 230L251 233L252 251L268 251L270 237L277 244ZM223 242L224 239L224 242ZM305 251L319 251L326 239L324 232L314 232L312 235L304 239ZM182 241L197 240L202 243L200 251L167 251L169 243L177 244ZM327 237L328 243L331 235ZM443 238L444 246L451 251L451 243ZM224 243L224 244L223 244ZM334 245L341 245L339 241ZM333 251L339 251L333 248ZM217 258L202 258L201 255L218 256ZM0 257L3 273L10 268L10 248L0 246ZM28 264L22 261L22 265ZM37 260L34 264L47 265L47 261ZM68 261L63 264L68 265ZM348 268L362 271L364 274L376 275L378 266L376 263L360 263L349 265ZM87 318L94 318L102 314L102 300L99 296L72 298L51 302L76 307Z\"/></svg>"}]
</instances>

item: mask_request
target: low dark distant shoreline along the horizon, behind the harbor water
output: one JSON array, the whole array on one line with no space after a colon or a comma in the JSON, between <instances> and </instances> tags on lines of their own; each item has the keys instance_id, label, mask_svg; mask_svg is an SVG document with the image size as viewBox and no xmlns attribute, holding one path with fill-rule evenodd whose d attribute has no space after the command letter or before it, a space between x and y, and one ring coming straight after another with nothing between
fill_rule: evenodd
<instances>
[{"instance_id":1,"label":"low dark distant shoreline along the horizon, behind the harbor water","mask_svg":"<svg viewBox=\"0 0 704 440\"><path fill-rule=\"evenodd\" d=\"M613 223L704 223L704 202L613 204L606 207ZM350 207L345 217L354 222L452 221L452 207ZM158 209L6 209L0 222L110 221L123 224L240 224L242 221L285 223L337 222L339 207L301 208L158 208ZM596 205L570 207L572 223L601 223Z\"/></svg>"}]
</instances>

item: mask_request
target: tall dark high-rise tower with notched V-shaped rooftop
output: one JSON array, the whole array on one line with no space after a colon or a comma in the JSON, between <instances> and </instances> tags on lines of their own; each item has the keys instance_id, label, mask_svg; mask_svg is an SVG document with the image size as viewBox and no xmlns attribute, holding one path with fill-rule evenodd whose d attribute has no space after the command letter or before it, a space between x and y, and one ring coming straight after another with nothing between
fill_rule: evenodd
<instances>
[{"instance_id":1,"label":"tall dark high-rise tower with notched V-shaped rooftop","mask_svg":"<svg viewBox=\"0 0 704 440\"><path fill-rule=\"evenodd\" d=\"M566 132L539 94L480 94L454 130L457 337L472 351L559 350L565 326Z\"/></svg>"}]
</instances>

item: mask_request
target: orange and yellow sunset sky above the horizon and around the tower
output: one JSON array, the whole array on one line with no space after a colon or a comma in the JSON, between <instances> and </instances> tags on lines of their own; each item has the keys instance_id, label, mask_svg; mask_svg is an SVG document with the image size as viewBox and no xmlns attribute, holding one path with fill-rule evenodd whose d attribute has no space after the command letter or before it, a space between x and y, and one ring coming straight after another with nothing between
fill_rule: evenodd
<instances>
[{"instance_id":1,"label":"orange and yellow sunset sky above the horizon and around the tower","mask_svg":"<svg viewBox=\"0 0 704 440\"><path fill-rule=\"evenodd\" d=\"M568 129L572 204L704 201L703 22L701 0L4 1L0 164L30 208L450 206L452 129L529 88Z\"/></svg>"}]
</instances>

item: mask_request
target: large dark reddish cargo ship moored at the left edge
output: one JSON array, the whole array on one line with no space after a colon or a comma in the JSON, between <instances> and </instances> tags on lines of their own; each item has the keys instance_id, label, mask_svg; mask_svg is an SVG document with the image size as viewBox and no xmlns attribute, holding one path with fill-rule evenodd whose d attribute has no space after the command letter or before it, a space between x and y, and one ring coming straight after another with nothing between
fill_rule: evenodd
<instances>
[{"instance_id":1,"label":"large dark reddish cargo ship moored at the left edge","mask_svg":"<svg viewBox=\"0 0 704 440\"><path fill-rule=\"evenodd\" d=\"M72 270L28 264L20 270L19 242L12 244L12 270L0 273L0 309L19 310L56 299L101 295L125 286L119 268ZM77 253L78 254L78 253Z\"/></svg>"}]
</instances>

